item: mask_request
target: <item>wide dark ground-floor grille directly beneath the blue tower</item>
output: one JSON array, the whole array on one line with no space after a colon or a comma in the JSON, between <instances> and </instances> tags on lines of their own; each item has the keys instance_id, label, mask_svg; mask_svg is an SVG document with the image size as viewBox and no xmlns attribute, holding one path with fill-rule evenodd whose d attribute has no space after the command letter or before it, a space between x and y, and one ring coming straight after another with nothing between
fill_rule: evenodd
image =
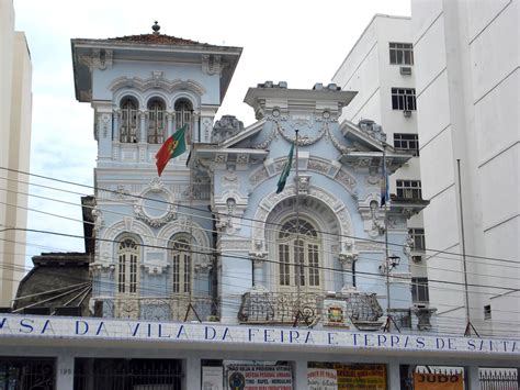
<instances>
[{"instance_id":1,"label":"wide dark ground-floor grille directly beneath the blue tower","mask_svg":"<svg viewBox=\"0 0 520 390\"><path fill-rule=\"evenodd\" d=\"M83 359L75 363L75 390L178 390L180 360Z\"/></svg>"}]
</instances>

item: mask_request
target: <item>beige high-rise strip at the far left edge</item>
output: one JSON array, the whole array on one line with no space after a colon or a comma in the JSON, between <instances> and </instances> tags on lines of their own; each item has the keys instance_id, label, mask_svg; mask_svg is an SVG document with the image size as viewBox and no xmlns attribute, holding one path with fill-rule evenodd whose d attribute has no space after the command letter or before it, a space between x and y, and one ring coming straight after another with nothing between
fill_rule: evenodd
<instances>
[{"instance_id":1,"label":"beige high-rise strip at the far left edge","mask_svg":"<svg viewBox=\"0 0 520 390\"><path fill-rule=\"evenodd\" d=\"M25 264L27 177L31 149L31 57L23 32L14 31L12 0L0 0L0 307L10 305ZM7 170L5 168L13 169Z\"/></svg>"}]
</instances>

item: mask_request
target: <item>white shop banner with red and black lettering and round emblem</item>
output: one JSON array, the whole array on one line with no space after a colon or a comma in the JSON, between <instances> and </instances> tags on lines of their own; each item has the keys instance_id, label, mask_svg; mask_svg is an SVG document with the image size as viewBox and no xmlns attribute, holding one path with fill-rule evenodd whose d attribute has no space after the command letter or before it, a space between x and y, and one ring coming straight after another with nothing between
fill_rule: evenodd
<instances>
[{"instance_id":1,"label":"white shop banner with red and black lettering and round emblem","mask_svg":"<svg viewBox=\"0 0 520 390\"><path fill-rule=\"evenodd\" d=\"M273 365L228 365L229 390L292 390L291 367Z\"/></svg>"}]
</instances>

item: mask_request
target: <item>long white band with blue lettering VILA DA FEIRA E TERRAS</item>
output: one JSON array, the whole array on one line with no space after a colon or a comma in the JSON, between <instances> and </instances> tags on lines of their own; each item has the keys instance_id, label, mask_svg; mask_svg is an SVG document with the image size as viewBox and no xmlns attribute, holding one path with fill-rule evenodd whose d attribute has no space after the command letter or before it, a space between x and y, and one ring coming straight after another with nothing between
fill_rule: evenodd
<instances>
[{"instance_id":1,"label":"long white band with blue lettering VILA DA FEIRA E TERRAS","mask_svg":"<svg viewBox=\"0 0 520 390\"><path fill-rule=\"evenodd\" d=\"M60 337L148 339L171 343L234 345L292 345L343 349L457 352L519 355L520 341L450 336L380 334L352 331L294 330L287 327L147 322L109 319L0 315L0 339Z\"/></svg>"}]
</instances>

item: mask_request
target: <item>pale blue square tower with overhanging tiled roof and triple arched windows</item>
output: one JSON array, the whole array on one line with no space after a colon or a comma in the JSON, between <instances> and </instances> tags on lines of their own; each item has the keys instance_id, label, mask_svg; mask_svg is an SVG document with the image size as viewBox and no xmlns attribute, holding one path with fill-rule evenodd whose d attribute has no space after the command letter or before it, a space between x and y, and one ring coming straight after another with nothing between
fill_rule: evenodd
<instances>
[{"instance_id":1,"label":"pale blue square tower with overhanging tiled roof and triple arched windows","mask_svg":"<svg viewBox=\"0 0 520 390\"><path fill-rule=\"evenodd\" d=\"M210 182L189 154L157 176L155 155L188 125L189 149L208 143L240 47L160 33L72 40L76 98L94 109L98 164L91 309L177 320L212 314Z\"/></svg>"}]
</instances>

